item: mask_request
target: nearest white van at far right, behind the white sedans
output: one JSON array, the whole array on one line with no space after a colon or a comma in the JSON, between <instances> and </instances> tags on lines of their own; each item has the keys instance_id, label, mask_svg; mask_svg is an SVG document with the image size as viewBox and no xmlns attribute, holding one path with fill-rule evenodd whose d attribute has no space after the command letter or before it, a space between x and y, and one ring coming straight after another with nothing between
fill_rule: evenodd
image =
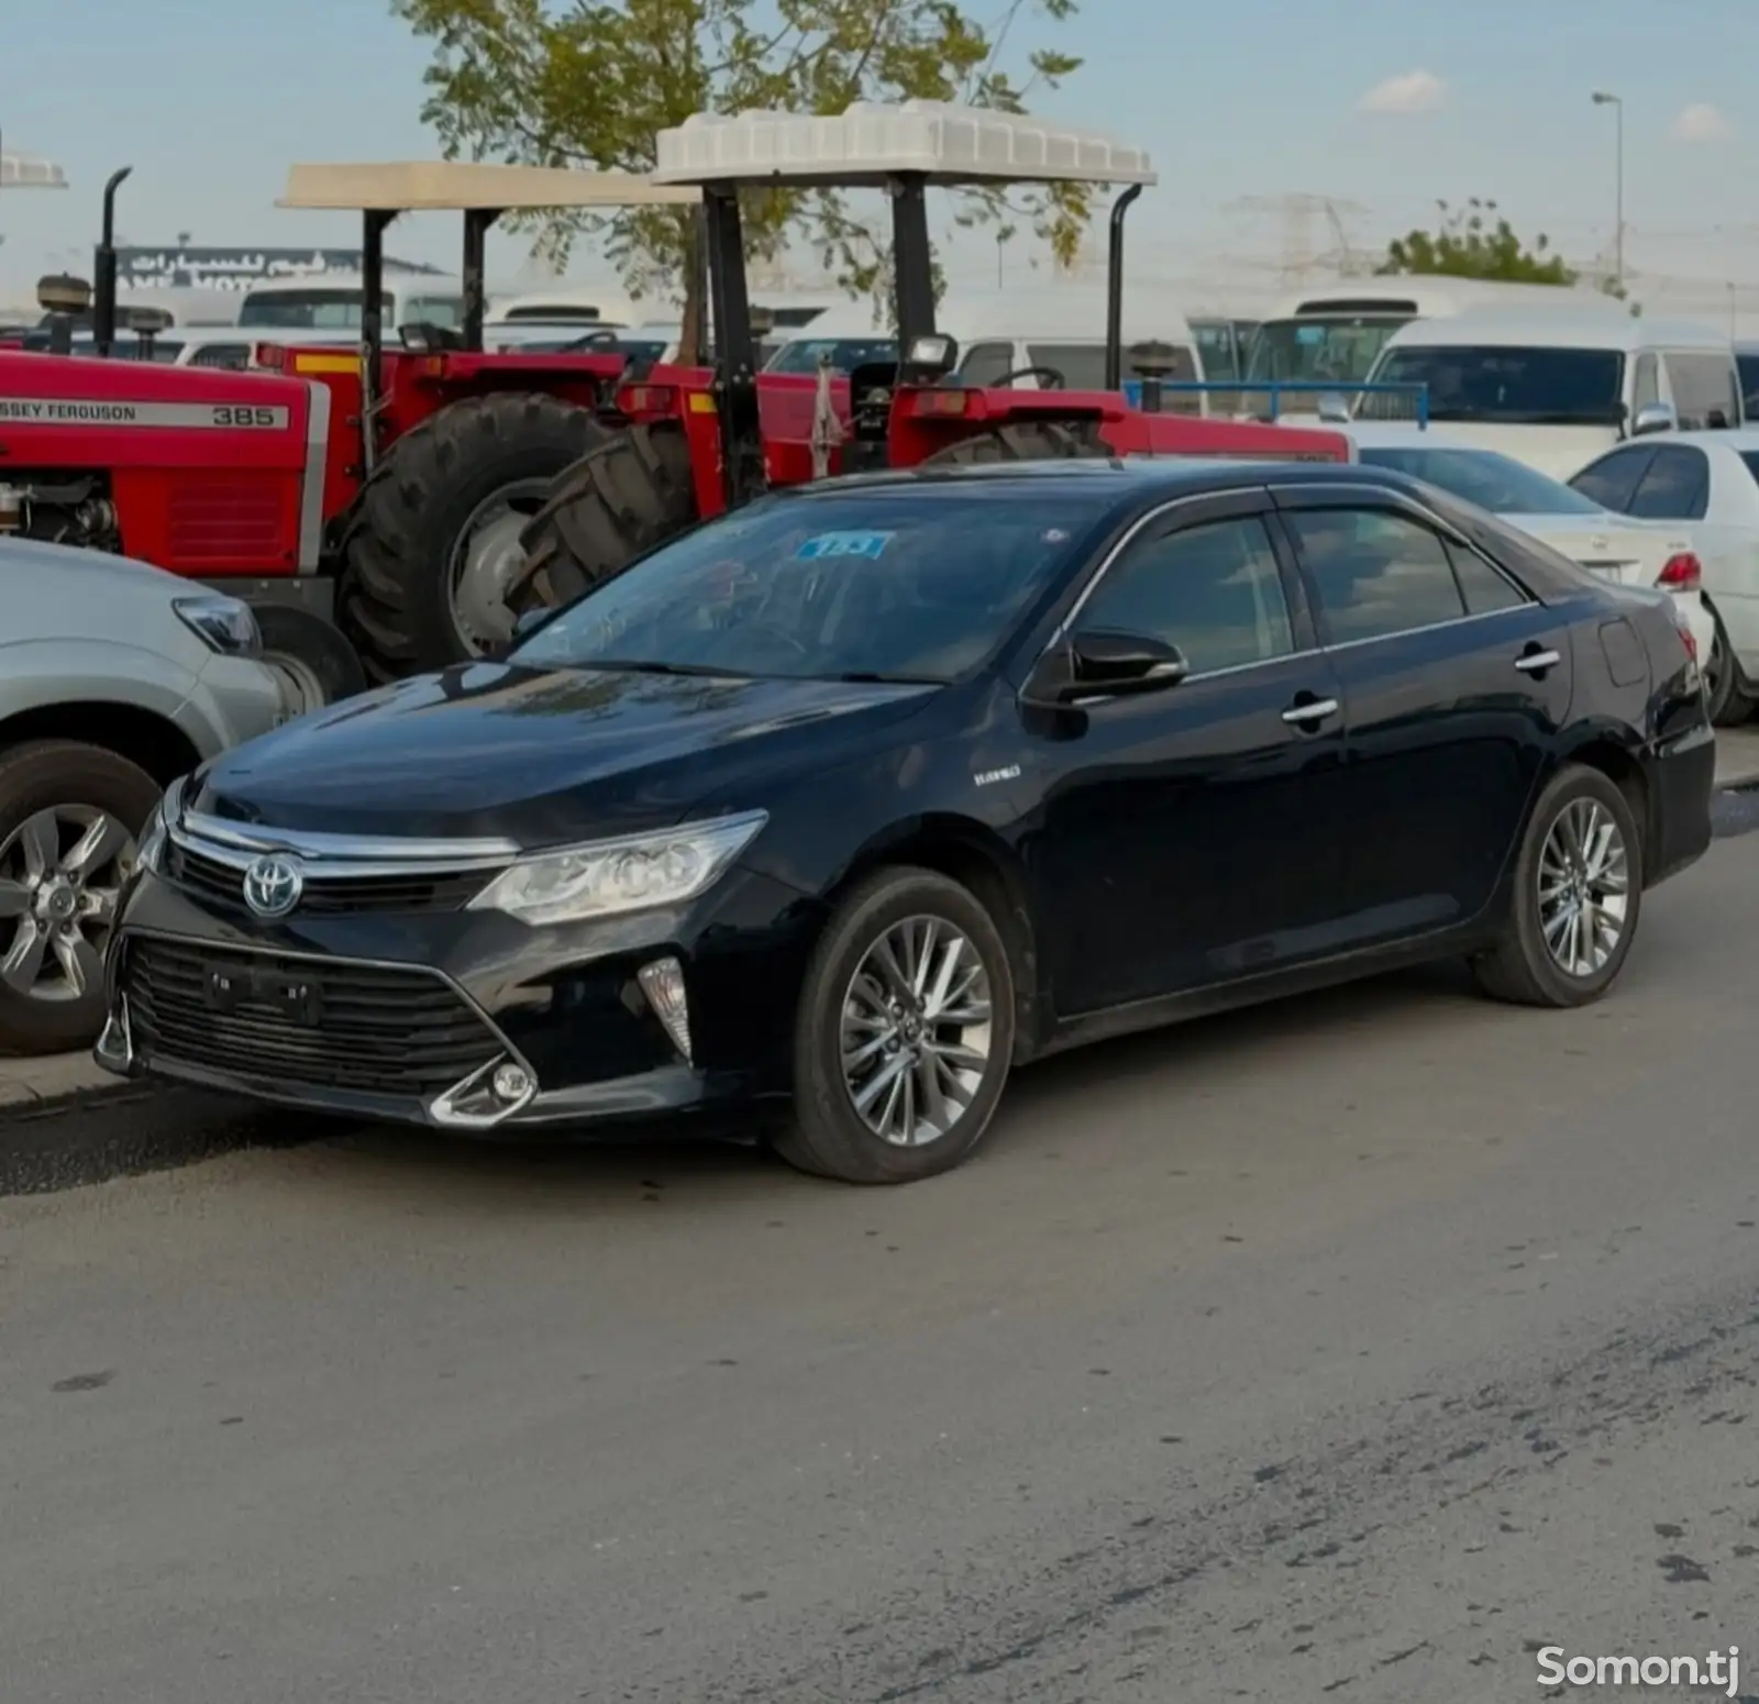
<instances>
[{"instance_id":1,"label":"nearest white van at far right, behind the white sedans","mask_svg":"<svg viewBox=\"0 0 1759 1704\"><path fill-rule=\"evenodd\" d=\"M1395 332L1370 375L1427 385L1449 436L1567 480L1622 438L1741 424L1741 380L1726 332L1629 313L1481 308ZM1381 415L1381 397L1356 413Z\"/></svg>"}]
</instances>

